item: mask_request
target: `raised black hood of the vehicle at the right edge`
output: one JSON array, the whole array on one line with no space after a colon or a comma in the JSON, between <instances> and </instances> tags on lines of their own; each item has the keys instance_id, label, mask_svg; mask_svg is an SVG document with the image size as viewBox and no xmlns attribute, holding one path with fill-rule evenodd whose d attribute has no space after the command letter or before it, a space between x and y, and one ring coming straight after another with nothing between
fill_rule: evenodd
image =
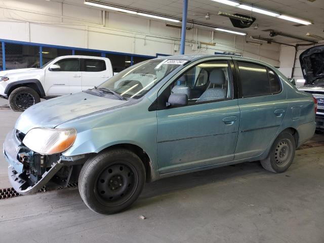
<instances>
[{"instance_id":1,"label":"raised black hood of the vehicle at the right edge","mask_svg":"<svg viewBox=\"0 0 324 243\"><path fill-rule=\"evenodd\" d=\"M324 85L324 45L307 49L299 56L305 85ZM323 80L320 80L323 79Z\"/></svg>"}]
</instances>

